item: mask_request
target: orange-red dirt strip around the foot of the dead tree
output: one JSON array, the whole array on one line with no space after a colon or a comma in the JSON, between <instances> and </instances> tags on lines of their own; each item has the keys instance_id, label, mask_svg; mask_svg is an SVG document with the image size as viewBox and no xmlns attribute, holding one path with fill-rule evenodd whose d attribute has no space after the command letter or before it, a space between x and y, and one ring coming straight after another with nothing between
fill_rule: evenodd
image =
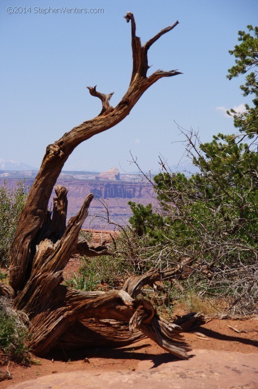
<instances>
[{"instance_id":1,"label":"orange-red dirt strip around the foot of the dead tree","mask_svg":"<svg viewBox=\"0 0 258 389\"><path fill-rule=\"evenodd\" d=\"M64 278L71 278L79 267L80 259L75 256L65 268ZM195 351L198 354L199 350L200 352L202 350L213 350L216 352L256 354L258 362L257 317L247 320L213 319L197 329L196 333L185 333L183 335L184 340L194 350L193 353L189 352L190 355L194 355ZM122 371L126 374L129 371L141 370L143 366L145 368L147 366L148 369L165 366L164 364L171 361L175 361L175 357L165 352L148 338L120 349L94 347L52 352L45 358L35 356L34 364L30 367L23 367L10 362L8 370L13 378L0 382L0 389L19 383L21 385L23 381L34 380L45 375L68 372L74 372L75 374L78 371L94 373L94 375L112 371ZM6 366L0 367L4 371L6 368ZM19 385L17 388L19 388ZM22 388L24 387L22 386Z\"/></svg>"}]
</instances>

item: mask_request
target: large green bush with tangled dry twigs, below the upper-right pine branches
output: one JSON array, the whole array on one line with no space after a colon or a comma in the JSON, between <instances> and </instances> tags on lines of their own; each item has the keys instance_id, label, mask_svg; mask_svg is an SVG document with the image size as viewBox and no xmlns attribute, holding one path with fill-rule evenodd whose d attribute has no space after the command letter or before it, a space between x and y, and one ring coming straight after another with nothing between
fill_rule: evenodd
<instances>
[{"instance_id":1,"label":"large green bush with tangled dry twigs, below the upper-right pine branches","mask_svg":"<svg viewBox=\"0 0 258 389\"><path fill-rule=\"evenodd\" d=\"M123 251L143 271L190 257L195 271L183 283L185 290L195 285L204 293L227 297L235 312L254 312L258 154L234 134L219 134L207 143L200 143L196 135L187 136L188 152L199 173L186 177L165 171L154 177L159 214L149 205L130 204L132 228L129 239L121 235Z\"/></svg>"}]
</instances>

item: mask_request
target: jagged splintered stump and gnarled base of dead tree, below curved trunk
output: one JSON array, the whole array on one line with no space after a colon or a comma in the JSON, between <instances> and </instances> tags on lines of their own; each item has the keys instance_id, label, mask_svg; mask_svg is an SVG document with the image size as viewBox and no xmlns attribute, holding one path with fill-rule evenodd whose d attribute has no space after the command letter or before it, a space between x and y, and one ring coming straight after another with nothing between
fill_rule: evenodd
<instances>
[{"instance_id":1,"label":"jagged splintered stump and gnarled base of dead tree, below curved trunk","mask_svg":"<svg viewBox=\"0 0 258 389\"><path fill-rule=\"evenodd\" d=\"M62 337L76 323L94 318L127 322L129 329L137 329L165 350L187 358L186 346L181 347L173 340L180 327L160 319L150 302L134 300L123 290L107 293L81 292L60 285L63 269L78 240L92 198L91 194L86 197L82 209L69 220L60 240L53 243L50 239L45 239L39 243L31 277L14 301L14 307L23 309L30 319L31 349L35 354L46 354L55 345L62 344ZM95 326L99 336L103 336L105 330L100 331L97 322ZM133 340L138 337L137 334L129 338Z\"/></svg>"}]
</instances>

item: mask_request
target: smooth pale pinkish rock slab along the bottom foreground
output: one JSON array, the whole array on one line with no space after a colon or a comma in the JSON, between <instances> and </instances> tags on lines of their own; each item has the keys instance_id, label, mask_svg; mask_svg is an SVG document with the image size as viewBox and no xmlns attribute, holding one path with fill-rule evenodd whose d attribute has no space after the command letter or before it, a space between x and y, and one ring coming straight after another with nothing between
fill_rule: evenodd
<instances>
[{"instance_id":1,"label":"smooth pale pinkish rock slab along the bottom foreground","mask_svg":"<svg viewBox=\"0 0 258 389\"><path fill-rule=\"evenodd\" d=\"M155 366L141 361L135 371L73 371L20 382L9 389L257 389L258 355L195 350L187 361Z\"/></svg>"}]
</instances>

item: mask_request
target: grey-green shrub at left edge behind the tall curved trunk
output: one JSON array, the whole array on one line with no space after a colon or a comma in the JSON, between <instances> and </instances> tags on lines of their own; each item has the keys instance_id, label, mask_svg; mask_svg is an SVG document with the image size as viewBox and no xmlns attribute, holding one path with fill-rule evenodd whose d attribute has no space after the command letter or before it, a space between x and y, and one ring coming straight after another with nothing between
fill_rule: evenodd
<instances>
[{"instance_id":1,"label":"grey-green shrub at left edge behind the tall curved trunk","mask_svg":"<svg viewBox=\"0 0 258 389\"><path fill-rule=\"evenodd\" d=\"M4 181L0 186L0 266L9 265L9 249L13 242L17 224L27 198L25 181L18 181L10 189Z\"/></svg>"}]
</instances>

